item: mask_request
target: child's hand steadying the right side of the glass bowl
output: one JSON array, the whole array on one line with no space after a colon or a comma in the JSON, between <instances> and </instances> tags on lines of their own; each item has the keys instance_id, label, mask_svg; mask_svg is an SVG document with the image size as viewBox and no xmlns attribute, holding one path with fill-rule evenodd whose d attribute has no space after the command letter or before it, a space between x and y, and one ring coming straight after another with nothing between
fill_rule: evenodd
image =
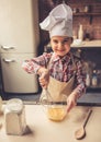
<instances>
[{"instance_id":1,"label":"child's hand steadying the right side of the glass bowl","mask_svg":"<svg viewBox=\"0 0 101 142\"><path fill-rule=\"evenodd\" d=\"M70 94L67 98L67 111L69 113L71 108L77 105L77 95Z\"/></svg>"}]
</instances>

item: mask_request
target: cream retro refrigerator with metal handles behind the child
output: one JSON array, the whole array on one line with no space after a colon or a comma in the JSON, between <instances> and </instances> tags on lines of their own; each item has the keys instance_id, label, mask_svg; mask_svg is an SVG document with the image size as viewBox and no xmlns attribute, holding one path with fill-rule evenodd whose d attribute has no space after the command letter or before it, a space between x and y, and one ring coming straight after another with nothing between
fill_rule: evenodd
<instances>
[{"instance_id":1,"label":"cream retro refrigerator with metal handles behind the child","mask_svg":"<svg viewBox=\"0 0 101 142\"><path fill-rule=\"evenodd\" d=\"M38 1L0 0L1 70L5 93L38 92L37 76L22 69L25 59L36 57L38 43Z\"/></svg>"}]
</instances>

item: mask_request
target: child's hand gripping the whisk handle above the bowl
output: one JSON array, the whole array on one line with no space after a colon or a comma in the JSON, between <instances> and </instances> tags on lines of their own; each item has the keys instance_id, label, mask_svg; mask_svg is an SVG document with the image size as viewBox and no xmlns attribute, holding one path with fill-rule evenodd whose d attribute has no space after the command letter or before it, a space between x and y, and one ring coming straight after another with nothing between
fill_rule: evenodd
<instances>
[{"instance_id":1,"label":"child's hand gripping the whisk handle above the bowl","mask_svg":"<svg viewBox=\"0 0 101 142\"><path fill-rule=\"evenodd\" d=\"M49 82L49 71L43 68L40 70L40 72L41 72L40 73L41 75L38 78L40 84L43 88L46 88Z\"/></svg>"}]
</instances>

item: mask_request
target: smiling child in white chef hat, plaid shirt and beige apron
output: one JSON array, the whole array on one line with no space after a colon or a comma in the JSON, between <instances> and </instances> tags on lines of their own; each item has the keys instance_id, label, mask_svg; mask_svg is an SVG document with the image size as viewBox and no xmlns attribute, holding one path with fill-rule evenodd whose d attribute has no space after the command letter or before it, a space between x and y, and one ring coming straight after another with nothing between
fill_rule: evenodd
<instances>
[{"instance_id":1,"label":"smiling child in white chef hat, plaid shirt and beige apron","mask_svg":"<svg viewBox=\"0 0 101 142\"><path fill-rule=\"evenodd\" d=\"M67 111L86 91L86 74L82 61L70 51L72 43L72 11L63 3L54 8L40 24L49 32L53 52L23 62L29 73L40 74L40 84L47 88L54 100L60 102L66 95Z\"/></svg>"}]
</instances>

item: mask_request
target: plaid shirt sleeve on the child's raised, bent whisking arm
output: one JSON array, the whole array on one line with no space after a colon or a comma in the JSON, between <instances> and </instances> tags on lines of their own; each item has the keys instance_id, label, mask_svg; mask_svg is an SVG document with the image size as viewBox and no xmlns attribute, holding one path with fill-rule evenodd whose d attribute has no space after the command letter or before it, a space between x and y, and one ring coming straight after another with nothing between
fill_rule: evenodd
<instances>
[{"instance_id":1,"label":"plaid shirt sleeve on the child's raised, bent whisking arm","mask_svg":"<svg viewBox=\"0 0 101 142\"><path fill-rule=\"evenodd\" d=\"M50 59L52 54L44 52L42 56L25 60L22 63L22 68L27 72L27 73L37 73L37 70L41 67L46 67L47 62Z\"/></svg>"}]
</instances>

